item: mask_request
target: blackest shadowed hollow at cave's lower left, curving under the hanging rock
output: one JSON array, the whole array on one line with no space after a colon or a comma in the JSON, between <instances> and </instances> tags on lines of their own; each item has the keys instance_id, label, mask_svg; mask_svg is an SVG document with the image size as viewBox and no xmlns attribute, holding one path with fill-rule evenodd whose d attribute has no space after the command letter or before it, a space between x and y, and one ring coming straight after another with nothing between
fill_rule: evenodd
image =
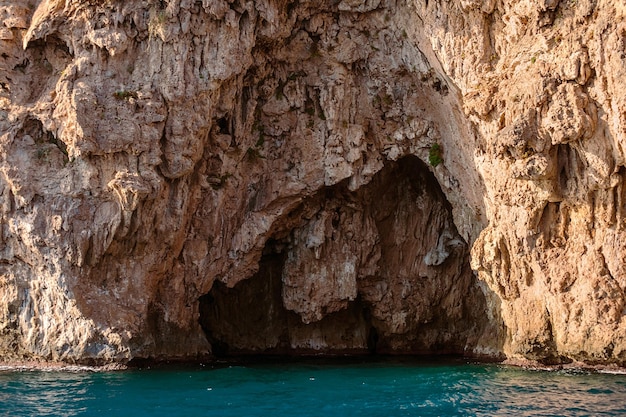
<instances>
[{"instance_id":1,"label":"blackest shadowed hollow at cave's lower left, curving under the hanging rock","mask_svg":"<svg viewBox=\"0 0 626 417\"><path fill-rule=\"evenodd\" d=\"M216 282L211 291L201 297L200 323L211 343L213 355L370 353L367 344L357 347L339 345L341 339L363 338L359 333L365 330L365 309L359 300L346 310L331 313L311 324L302 323L296 313L285 308L281 298L281 270L285 257L285 253L266 253L255 275L234 288ZM294 340L303 342L307 338L311 341L313 334L325 334L325 339L330 338L335 344L313 346L300 343L292 346Z\"/></svg>"}]
</instances>

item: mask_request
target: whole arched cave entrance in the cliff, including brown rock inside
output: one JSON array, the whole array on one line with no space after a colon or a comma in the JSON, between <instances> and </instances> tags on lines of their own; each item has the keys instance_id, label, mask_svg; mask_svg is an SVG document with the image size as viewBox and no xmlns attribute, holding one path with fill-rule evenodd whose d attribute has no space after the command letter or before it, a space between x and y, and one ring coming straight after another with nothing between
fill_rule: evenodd
<instances>
[{"instance_id":1,"label":"whole arched cave entrance in the cliff, including brown rock inside","mask_svg":"<svg viewBox=\"0 0 626 417\"><path fill-rule=\"evenodd\" d=\"M356 191L323 189L287 217L256 274L200 298L216 356L474 347L484 296L450 205L417 157L389 162Z\"/></svg>"}]
</instances>

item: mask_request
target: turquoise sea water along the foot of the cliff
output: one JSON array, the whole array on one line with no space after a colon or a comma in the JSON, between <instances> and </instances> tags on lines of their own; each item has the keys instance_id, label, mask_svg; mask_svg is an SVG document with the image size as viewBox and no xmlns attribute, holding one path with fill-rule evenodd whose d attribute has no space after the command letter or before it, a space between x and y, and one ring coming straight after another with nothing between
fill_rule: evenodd
<instances>
[{"instance_id":1,"label":"turquoise sea water along the foot of the cliff","mask_svg":"<svg viewBox=\"0 0 626 417\"><path fill-rule=\"evenodd\" d=\"M0 372L2 416L624 416L626 375L460 361Z\"/></svg>"}]
</instances>

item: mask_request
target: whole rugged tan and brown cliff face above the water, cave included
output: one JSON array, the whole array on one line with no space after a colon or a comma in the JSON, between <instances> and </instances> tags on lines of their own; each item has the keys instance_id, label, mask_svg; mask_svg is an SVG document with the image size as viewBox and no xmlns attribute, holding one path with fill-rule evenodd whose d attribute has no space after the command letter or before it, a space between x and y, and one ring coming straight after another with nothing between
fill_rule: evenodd
<instances>
[{"instance_id":1,"label":"whole rugged tan and brown cliff face above the water, cave included","mask_svg":"<svg viewBox=\"0 0 626 417\"><path fill-rule=\"evenodd\" d=\"M608 0L0 0L0 354L626 366Z\"/></svg>"}]
</instances>

